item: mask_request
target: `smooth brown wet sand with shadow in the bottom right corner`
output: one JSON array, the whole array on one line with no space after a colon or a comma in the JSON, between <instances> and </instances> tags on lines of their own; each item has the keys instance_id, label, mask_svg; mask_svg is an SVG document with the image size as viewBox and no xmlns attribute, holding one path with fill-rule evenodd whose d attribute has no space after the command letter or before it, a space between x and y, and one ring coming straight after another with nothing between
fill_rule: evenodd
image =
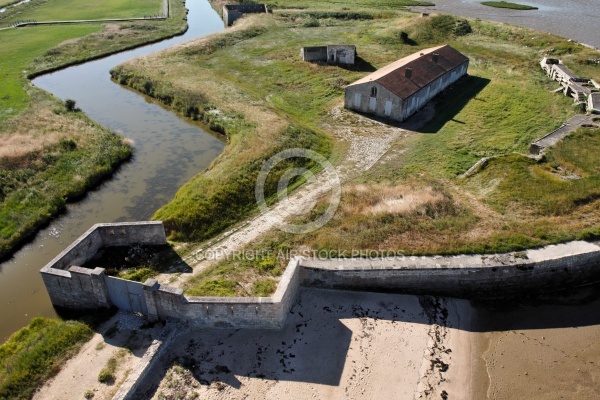
<instances>
[{"instance_id":1,"label":"smooth brown wet sand with shadow in the bottom right corner","mask_svg":"<svg viewBox=\"0 0 600 400\"><path fill-rule=\"evenodd\" d=\"M474 343L487 376L476 374L474 386L489 384L490 399L600 398L600 300L582 300L597 293L590 287L537 305L478 307L477 330L487 332Z\"/></svg>"}]
</instances>

